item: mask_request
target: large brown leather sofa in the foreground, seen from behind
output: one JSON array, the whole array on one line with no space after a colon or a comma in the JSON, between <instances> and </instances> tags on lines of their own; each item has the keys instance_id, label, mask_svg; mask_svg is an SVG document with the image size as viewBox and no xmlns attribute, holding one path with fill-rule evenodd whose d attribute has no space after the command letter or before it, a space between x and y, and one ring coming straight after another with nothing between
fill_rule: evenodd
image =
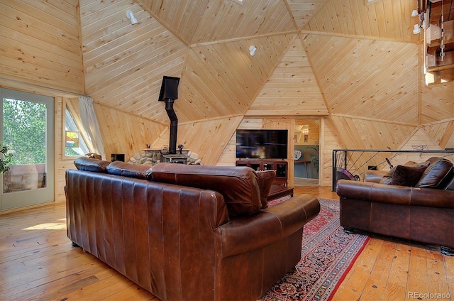
<instances>
[{"instance_id":1,"label":"large brown leather sofa in the foreground, seen from behind","mask_svg":"<svg viewBox=\"0 0 454 301\"><path fill-rule=\"evenodd\" d=\"M257 300L299 262L320 210L311 195L264 208L250 168L74 163L68 237L161 300Z\"/></svg>"}]
</instances>

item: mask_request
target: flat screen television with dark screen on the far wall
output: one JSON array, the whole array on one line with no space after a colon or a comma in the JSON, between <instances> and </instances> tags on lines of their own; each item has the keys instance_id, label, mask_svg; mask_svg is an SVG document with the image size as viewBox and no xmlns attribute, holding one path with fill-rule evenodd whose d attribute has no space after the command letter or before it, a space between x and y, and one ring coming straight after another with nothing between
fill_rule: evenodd
<instances>
[{"instance_id":1,"label":"flat screen television with dark screen on the far wall","mask_svg":"<svg viewBox=\"0 0 454 301\"><path fill-rule=\"evenodd\" d=\"M288 130L236 130L236 158L287 159Z\"/></svg>"}]
</instances>

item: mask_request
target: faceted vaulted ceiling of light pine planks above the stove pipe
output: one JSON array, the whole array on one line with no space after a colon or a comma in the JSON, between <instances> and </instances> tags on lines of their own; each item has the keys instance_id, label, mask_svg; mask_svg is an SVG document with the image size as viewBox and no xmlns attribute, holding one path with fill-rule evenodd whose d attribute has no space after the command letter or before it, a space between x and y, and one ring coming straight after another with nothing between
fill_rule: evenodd
<instances>
[{"instance_id":1,"label":"faceted vaulted ceiling of light pine planks above the stove pipe","mask_svg":"<svg viewBox=\"0 0 454 301\"><path fill-rule=\"evenodd\" d=\"M181 77L180 123L257 115L331 114L414 126L450 119L453 84L423 84L423 35L412 33L417 6L81 0L86 93L160 124L169 122L157 102L163 75ZM127 10L138 24L131 25Z\"/></svg>"}]
</instances>

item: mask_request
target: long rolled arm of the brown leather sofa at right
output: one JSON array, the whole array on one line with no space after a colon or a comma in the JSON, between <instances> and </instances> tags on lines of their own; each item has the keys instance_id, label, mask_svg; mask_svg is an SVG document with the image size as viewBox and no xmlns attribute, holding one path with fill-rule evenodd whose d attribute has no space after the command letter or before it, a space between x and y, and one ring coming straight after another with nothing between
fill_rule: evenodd
<instances>
[{"instance_id":1,"label":"long rolled arm of the brown leather sofa at right","mask_svg":"<svg viewBox=\"0 0 454 301\"><path fill-rule=\"evenodd\" d=\"M341 198L367 202L454 208L454 191L450 190L339 180L336 193Z\"/></svg>"}]
</instances>

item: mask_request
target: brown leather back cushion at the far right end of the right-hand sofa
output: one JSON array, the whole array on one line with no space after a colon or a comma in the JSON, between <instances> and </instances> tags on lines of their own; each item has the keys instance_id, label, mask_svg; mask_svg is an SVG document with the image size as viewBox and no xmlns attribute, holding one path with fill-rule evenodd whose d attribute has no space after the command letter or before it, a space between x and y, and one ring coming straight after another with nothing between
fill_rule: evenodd
<instances>
[{"instance_id":1,"label":"brown leather back cushion at the far right end of the right-hand sofa","mask_svg":"<svg viewBox=\"0 0 454 301\"><path fill-rule=\"evenodd\" d=\"M428 159L428 162L430 165L424 171L416 187L444 188L443 185L450 180L448 176L453 169L453 163L450 160L436 157Z\"/></svg>"}]
</instances>

